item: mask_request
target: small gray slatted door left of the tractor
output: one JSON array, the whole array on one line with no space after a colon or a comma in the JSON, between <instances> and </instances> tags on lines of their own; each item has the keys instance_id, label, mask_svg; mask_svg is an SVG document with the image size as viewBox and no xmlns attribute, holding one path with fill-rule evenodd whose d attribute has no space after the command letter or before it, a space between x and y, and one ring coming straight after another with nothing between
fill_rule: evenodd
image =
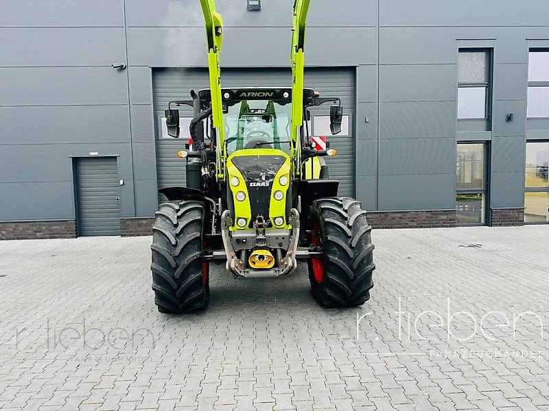
<instances>
[{"instance_id":1,"label":"small gray slatted door left of the tractor","mask_svg":"<svg viewBox=\"0 0 549 411\"><path fill-rule=\"evenodd\" d=\"M116 157L75 159L79 236L120 235L120 194Z\"/></svg>"}]
</instances>

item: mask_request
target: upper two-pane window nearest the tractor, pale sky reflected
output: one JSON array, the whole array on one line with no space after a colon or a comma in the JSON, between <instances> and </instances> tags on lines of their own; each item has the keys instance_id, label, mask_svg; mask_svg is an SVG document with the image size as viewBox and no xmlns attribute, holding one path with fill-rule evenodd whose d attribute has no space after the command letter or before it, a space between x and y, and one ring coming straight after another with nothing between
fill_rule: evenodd
<instances>
[{"instance_id":1,"label":"upper two-pane window nearest the tractor, pale sky reflected","mask_svg":"<svg viewBox=\"0 0 549 411\"><path fill-rule=\"evenodd\" d=\"M491 60L487 49L460 49L458 53L458 119L490 117Z\"/></svg>"}]
</instances>

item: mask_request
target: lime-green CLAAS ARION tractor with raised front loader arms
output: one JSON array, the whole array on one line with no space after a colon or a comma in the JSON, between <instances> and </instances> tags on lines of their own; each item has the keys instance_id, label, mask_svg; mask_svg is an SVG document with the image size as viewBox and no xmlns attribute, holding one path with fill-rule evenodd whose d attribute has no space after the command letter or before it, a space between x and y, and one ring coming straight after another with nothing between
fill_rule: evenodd
<instances>
[{"instance_id":1,"label":"lime-green CLAAS ARION tractor with raised front loader arms","mask_svg":"<svg viewBox=\"0 0 549 411\"><path fill-rule=\"evenodd\" d=\"M178 105L191 105L193 151L185 158L187 186L159 190L153 226L152 288L160 312L203 309L209 265L242 277L278 277L307 261L312 294L322 306L354 307L373 286L371 227L360 202L338 197L315 149L309 110L332 103L332 134L341 129L338 98L303 87L305 19L309 0L295 0L292 87L221 88L222 18L214 0L200 0L207 32L210 88L171 101L168 133L179 136ZM174 108L175 107L175 108ZM318 147L317 147L318 148Z\"/></svg>"}]
</instances>

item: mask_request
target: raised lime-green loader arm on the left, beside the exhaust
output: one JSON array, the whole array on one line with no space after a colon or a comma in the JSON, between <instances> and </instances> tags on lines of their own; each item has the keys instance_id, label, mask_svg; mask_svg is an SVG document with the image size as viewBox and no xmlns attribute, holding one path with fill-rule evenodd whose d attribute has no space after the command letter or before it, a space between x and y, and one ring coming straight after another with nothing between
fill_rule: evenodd
<instances>
[{"instance_id":1,"label":"raised lime-green loader arm on the left, beside the exhaust","mask_svg":"<svg viewBox=\"0 0 549 411\"><path fill-rule=\"evenodd\" d=\"M211 109L213 127L218 137L216 168L218 180L224 178L225 136L223 123L223 105L221 100L221 70L219 55L223 42L223 21L215 10L215 0L200 0L206 26L208 45L208 70L211 90Z\"/></svg>"}]
</instances>

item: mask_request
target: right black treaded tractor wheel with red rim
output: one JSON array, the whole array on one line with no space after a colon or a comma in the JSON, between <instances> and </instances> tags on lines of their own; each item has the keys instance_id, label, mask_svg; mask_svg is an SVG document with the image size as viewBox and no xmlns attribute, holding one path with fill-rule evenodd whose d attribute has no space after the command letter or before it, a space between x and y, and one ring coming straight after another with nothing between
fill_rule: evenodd
<instances>
[{"instance_id":1,"label":"right black treaded tractor wheel with red rim","mask_svg":"<svg viewBox=\"0 0 549 411\"><path fill-rule=\"evenodd\" d=\"M322 258L312 258L309 280L314 298L325 307L357 307L370 298L373 287L371 229L360 202L350 197L318 199L310 213L312 244Z\"/></svg>"}]
</instances>

